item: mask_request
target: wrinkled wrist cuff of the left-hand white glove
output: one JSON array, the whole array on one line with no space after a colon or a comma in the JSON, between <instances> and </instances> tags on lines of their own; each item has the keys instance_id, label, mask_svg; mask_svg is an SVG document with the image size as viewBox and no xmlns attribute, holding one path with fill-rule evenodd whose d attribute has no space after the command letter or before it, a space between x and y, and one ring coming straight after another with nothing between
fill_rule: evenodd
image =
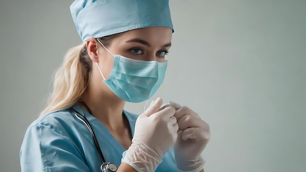
<instances>
[{"instance_id":1,"label":"wrinkled wrist cuff of the left-hand white glove","mask_svg":"<svg viewBox=\"0 0 306 172\"><path fill-rule=\"evenodd\" d=\"M129 164L137 172L154 172L163 155L146 145L132 143L130 148L123 152L122 156L121 162Z\"/></svg>"}]
</instances>

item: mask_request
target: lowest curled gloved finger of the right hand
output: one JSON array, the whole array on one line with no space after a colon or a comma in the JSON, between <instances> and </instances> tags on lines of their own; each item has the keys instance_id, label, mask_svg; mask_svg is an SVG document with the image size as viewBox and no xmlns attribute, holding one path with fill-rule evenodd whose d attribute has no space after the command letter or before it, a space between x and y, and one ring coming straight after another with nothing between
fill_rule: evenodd
<instances>
[{"instance_id":1,"label":"lowest curled gloved finger of the right hand","mask_svg":"<svg viewBox=\"0 0 306 172\"><path fill-rule=\"evenodd\" d=\"M183 140L192 139L196 143L207 143L210 139L209 129L188 128L182 132Z\"/></svg>"}]
</instances>

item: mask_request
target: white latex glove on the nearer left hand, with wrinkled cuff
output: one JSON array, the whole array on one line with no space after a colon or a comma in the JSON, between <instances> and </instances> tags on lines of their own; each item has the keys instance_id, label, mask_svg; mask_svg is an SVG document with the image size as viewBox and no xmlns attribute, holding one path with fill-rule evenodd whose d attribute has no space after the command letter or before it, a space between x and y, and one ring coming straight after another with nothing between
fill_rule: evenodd
<instances>
[{"instance_id":1,"label":"white latex glove on the nearer left hand, with wrinkled cuff","mask_svg":"<svg viewBox=\"0 0 306 172\"><path fill-rule=\"evenodd\" d=\"M154 172L177 139L175 108L159 111L161 105L162 99L157 98L137 118L131 147L123 152L121 162L131 165L138 172Z\"/></svg>"}]
</instances>

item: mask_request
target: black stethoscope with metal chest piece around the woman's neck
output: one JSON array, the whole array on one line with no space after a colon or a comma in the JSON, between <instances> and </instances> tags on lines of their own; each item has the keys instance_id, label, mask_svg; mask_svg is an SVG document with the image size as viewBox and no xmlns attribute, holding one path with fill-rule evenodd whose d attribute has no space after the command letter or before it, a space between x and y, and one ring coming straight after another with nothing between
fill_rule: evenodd
<instances>
[{"instance_id":1,"label":"black stethoscope with metal chest piece around the woman's neck","mask_svg":"<svg viewBox=\"0 0 306 172\"><path fill-rule=\"evenodd\" d=\"M90 109L87 107L87 105L86 105L84 102L82 102L82 103L83 103L83 105L86 106L86 108L88 109L89 113L91 114L91 111L90 111ZM85 116L85 115L84 115L84 116L81 115L78 111L76 111L76 110L75 110L74 108L72 108L72 107L71 107L70 109L73 111L73 113L75 114L75 116L76 116L79 120L81 120L81 121L86 125L86 127L88 128L90 134L92 135L92 138L93 138L93 140L94 140L94 143L95 143L95 146L96 146L96 148L97 148L97 151L99 152L99 154L100 154L100 156L101 156L101 159L102 159L102 165L101 165L101 167L100 167L101 172L116 172L117 169L118 169L117 166L116 166L114 163L106 162L106 160L105 160L105 158L104 158L104 156L103 156L103 153L102 153L102 151L101 151L101 149L100 149L100 146L99 146L97 137L96 137L96 135L94 134L93 129L91 128L91 126L90 126L90 124L89 124L89 121L87 120L86 116Z\"/></svg>"}]
</instances>

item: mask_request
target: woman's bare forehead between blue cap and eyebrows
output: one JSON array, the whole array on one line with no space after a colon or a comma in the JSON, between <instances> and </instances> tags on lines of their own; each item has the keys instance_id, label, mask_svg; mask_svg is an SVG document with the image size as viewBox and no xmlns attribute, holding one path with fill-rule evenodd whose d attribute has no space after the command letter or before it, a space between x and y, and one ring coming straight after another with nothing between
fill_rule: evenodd
<instances>
[{"instance_id":1,"label":"woman's bare forehead between blue cap and eyebrows","mask_svg":"<svg viewBox=\"0 0 306 172\"><path fill-rule=\"evenodd\" d=\"M115 38L114 42L128 41L130 39L142 39L150 44L165 44L172 40L172 29L169 27L145 27L125 32Z\"/></svg>"}]
</instances>

